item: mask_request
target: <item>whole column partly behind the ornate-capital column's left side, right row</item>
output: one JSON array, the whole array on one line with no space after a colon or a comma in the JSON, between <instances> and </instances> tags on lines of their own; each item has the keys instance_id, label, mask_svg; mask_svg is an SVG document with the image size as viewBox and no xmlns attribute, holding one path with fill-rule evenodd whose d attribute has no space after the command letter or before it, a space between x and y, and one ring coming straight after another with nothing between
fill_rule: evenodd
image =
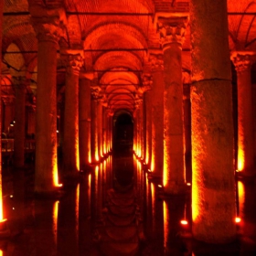
<instances>
[{"instance_id":1,"label":"whole column partly behind the ornate-capital column's left side, right row","mask_svg":"<svg viewBox=\"0 0 256 256\"><path fill-rule=\"evenodd\" d=\"M164 60L163 54L150 52L152 64L152 171L163 177L164 168Z\"/></svg>"}]
</instances>

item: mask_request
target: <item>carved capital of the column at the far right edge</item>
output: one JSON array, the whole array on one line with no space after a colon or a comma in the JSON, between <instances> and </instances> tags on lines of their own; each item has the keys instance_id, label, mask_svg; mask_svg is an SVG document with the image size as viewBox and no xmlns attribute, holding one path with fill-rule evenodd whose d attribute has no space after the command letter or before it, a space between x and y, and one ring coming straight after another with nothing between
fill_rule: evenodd
<instances>
[{"instance_id":1,"label":"carved capital of the column at the far right edge","mask_svg":"<svg viewBox=\"0 0 256 256\"><path fill-rule=\"evenodd\" d=\"M256 52L251 51L234 51L230 59L233 61L237 72L251 69L251 64L256 60Z\"/></svg>"}]
</instances>

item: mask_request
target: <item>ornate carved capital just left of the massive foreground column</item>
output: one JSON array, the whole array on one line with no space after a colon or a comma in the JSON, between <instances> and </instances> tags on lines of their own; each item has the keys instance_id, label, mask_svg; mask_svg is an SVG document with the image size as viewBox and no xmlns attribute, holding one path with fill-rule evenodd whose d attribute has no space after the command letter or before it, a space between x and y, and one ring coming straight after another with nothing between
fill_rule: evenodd
<instances>
[{"instance_id":1,"label":"ornate carved capital just left of the massive foreground column","mask_svg":"<svg viewBox=\"0 0 256 256\"><path fill-rule=\"evenodd\" d=\"M180 49L182 48L187 23L187 16L158 16L157 31L159 32L160 42L164 50L173 43L178 44Z\"/></svg>"}]
</instances>

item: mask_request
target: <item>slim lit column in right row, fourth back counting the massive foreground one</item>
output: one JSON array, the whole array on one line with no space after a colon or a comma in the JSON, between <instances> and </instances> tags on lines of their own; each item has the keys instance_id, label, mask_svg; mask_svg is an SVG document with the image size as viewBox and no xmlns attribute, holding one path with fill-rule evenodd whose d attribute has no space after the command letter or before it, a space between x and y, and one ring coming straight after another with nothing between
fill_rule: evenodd
<instances>
[{"instance_id":1,"label":"slim lit column in right row, fourth back counting the massive foreground one","mask_svg":"<svg viewBox=\"0 0 256 256\"><path fill-rule=\"evenodd\" d=\"M147 165L151 164L152 149L152 76L144 74L144 102L145 102L145 152L144 158Z\"/></svg>"}]
</instances>

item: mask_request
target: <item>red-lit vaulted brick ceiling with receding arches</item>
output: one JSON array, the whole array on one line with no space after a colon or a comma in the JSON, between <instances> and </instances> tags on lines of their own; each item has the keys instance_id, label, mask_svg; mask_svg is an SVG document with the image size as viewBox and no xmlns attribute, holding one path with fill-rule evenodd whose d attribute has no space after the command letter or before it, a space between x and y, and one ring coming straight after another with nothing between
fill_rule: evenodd
<instances>
[{"instance_id":1,"label":"red-lit vaulted brick ceiling with receding arches","mask_svg":"<svg viewBox=\"0 0 256 256\"><path fill-rule=\"evenodd\" d=\"M61 6L67 16L59 48L82 48L85 71L94 74L112 112L133 112L148 73L148 49L161 48L155 13L188 13L189 0L4 0L2 85L11 69L27 69L31 91L37 85L37 37L29 5ZM230 50L256 51L256 1L227 0ZM184 7L185 6L185 7ZM11 47L10 47L11 46ZM15 46L15 47L14 47ZM190 67L190 27L183 45L183 69ZM58 55L58 86L63 93L65 69ZM17 61L22 59L21 65ZM61 97L59 96L59 101Z\"/></svg>"}]
</instances>

